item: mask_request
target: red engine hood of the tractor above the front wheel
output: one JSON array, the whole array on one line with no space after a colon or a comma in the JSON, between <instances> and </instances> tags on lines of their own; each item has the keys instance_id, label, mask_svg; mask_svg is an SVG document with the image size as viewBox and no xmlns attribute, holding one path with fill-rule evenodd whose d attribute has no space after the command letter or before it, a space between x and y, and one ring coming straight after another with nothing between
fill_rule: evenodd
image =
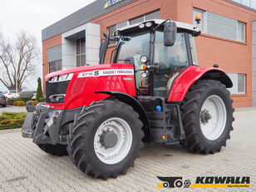
<instances>
[{"instance_id":1,"label":"red engine hood of the tractor above the front wheel","mask_svg":"<svg viewBox=\"0 0 256 192\"><path fill-rule=\"evenodd\" d=\"M134 74L110 75L110 76L88 76L77 78L79 73L86 71L122 70L134 67L131 64L106 64L97 66L81 66L72 69L53 72L46 76L48 81L52 76L60 76L73 73L66 89L65 102L61 104L47 103L54 109L74 109L80 106L89 106L92 101L101 101L108 97L106 94L97 94L96 91L120 91L130 96L135 96Z\"/></svg>"}]
</instances>

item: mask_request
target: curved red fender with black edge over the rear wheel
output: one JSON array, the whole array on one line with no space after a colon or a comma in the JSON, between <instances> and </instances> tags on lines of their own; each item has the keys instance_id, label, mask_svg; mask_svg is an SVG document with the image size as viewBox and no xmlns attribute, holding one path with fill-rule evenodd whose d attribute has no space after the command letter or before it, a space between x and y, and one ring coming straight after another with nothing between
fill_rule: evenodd
<instances>
[{"instance_id":1,"label":"curved red fender with black edge over the rear wheel","mask_svg":"<svg viewBox=\"0 0 256 192\"><path fill-rule=\"evenodd\" d=\"M214 67L200 68L199 66L189 66L176 78L167 101L183 101L185 95L190 89L190 86L192 86L195 81L204 79L220 81L227 88L233 86L229 76L222 69Z\"/></svg>"}]
</instances>

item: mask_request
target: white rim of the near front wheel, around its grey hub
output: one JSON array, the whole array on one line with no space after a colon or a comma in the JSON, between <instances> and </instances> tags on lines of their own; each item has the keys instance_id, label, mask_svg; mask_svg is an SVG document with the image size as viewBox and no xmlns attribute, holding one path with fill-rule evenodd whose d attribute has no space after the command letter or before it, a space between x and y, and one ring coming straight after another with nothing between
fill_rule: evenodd
<instances>
[{"instance_id":1,"label":"white rim of the near front wheel, around its grey hub","mask_svg":"<svg viewBox=\"0 0 256 192\"><path fill-rule=\"evenodd\" d=\"M102 135L105 133L114 132L117 140L114 146L107 148L102 145ZM113 165L125 159L130 151L132 144L132 132L129 124L121 118L111 118L104 121L96 130L94 137L94 150L97 157L105 164Z\"/></svg>"}]
</instances>

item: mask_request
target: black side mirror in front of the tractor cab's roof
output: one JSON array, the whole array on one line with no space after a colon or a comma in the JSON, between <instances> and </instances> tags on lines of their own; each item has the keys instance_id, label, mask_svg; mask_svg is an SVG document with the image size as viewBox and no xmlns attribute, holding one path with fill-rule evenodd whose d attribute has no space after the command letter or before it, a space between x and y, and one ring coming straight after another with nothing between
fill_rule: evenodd
<instances>
[{"instance_id":1,"label":"black side mirror in front of the tractor cab's roof","mask_svg":"<svg viewBox=\"0 0 256 192\"><path fill-rule=\"evenodd\" d=\"M177 33L177 25L175 22L165 22L164 42L166 47L171 47L175 44Z\"/></svg>"}]
</instances>

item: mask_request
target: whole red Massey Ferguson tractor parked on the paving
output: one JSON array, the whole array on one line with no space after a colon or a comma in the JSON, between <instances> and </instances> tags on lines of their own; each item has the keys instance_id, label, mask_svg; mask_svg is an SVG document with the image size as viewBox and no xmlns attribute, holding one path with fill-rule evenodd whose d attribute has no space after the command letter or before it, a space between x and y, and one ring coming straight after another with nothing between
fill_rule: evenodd
<instances>
[{"instance_id":1,"label":"whole red Massey Ferguson tractor parked on the paving","mask_svg":"<svg viewBox=\"0 0 256 192\"><path fill-rule=\"evenodd\" d=\"M170 20L122 27L112 38L104 32L99 65L46 76L46 102L27 103L22 135L104 180L125 175L144 142L219 152L233 130L233 84L218 65L198 66L199 34ZM104 64L110 41L116 49Z\"/></svg>"}]
</instances>

